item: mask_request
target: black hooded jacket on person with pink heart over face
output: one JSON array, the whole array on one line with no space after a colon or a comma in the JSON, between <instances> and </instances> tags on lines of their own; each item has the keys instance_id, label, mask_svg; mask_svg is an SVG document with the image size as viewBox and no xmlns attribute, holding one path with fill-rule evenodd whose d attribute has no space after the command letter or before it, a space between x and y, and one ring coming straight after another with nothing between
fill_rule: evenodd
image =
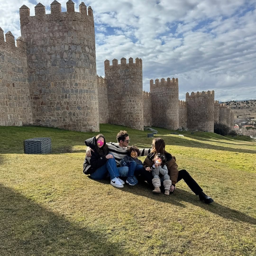
<instances>
[{"instance_id":1,"label":"black hooded jacket on person with pink heart over face","mask_svg":"<svg viewBox=\"0 0 256 256\"><path fill-rule=\"evenodd\" d=\"M92 138L89 138L88 140L84 141L86 146L90 148L97 148L97 142L95 136ZM96 150L94 152L91 151L91 157L85 157L83 162L83 173L84 174L91 174L95 172L98 168L100 168L102 165L104 165L108 159L106 159L106 156L100 156Z\"/></svg>"}]
</instances>

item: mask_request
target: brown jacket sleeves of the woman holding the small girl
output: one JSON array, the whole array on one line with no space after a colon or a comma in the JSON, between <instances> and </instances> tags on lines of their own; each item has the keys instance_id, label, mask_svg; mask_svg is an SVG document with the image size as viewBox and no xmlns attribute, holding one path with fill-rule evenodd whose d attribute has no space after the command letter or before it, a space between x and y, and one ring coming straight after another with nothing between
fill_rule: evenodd
<instances>
[{"instance_id":1,"label":"brown jacket sleeves of the woman holding the small girl","mask_svg":"<svg viewBox=\"0 0 256 256\"><path fill-rule=\"evenodd\" d=\"M155 155L153 154L148 154L144 163L143 163L143 167L152 167L153 166L153 158ZM168 169L168 174L170 176L170 180L172 181L172 185L175 186L175 184L177 183L177 178L178 178L178 165L176 164L176 158L175 156L172 156L170 153L165 153L165 157L166 157L166 166Z\"/></svg>"}]
</instances>

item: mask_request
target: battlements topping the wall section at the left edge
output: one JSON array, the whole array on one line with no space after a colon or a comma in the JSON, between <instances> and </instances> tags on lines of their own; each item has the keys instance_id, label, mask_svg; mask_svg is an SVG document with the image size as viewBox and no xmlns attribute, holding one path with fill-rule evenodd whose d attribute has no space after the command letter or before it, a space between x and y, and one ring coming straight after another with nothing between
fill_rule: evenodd
<instances>
[{"instance_id":1,"label":"battlements topping the wall section at the left edge","mask_svg":"<svg viewBox=\"0 0 256 256\"><path fill-rule=\"evenodd\" d=\"M26 43L24 42L24 39L20 36L16 41L17 46L15 45L15 38L10 31L5 34L4 40L4 31L0 27L0 49L2 51L11 52L20 57L26 57Z\"/></svg>"}]
</instances>

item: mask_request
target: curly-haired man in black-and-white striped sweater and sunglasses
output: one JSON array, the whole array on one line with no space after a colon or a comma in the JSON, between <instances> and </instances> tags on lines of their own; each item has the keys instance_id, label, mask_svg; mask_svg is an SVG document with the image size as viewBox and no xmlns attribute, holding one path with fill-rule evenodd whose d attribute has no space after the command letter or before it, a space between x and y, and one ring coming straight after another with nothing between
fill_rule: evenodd
<instances>
[{"instance_id":1,"label":"curly-haired man in black-and-white striped sweater and sunglasses","mask_svg":"<svg viewBox=\"0 0 256 256\"><path fill-rule=\"evenodd\" d=\"M131 168L133 168L132 165L132 161L128 166L121 166L120 165L120 161L121 159L123 159L124 157L126 157L127 155L130 156L130 153L128 152L128 144L130 142L130 138L129 135L126 131L120 131L117 135L116 135L116 140L117 143L115 142L108 142L106 143L108 149L109 149L109 153L113 154L115 161L116 161L116 166L118 167L118 171L120 173L121 177L127 177L129 172L132 172ZM95 148L90 148L87 147L86 149L86 155L88 157L91 156L91 151L93 150L94 152ZM140 149L140 154L139 156L147 156L150 153L151 148L141 148ZM130 170L129 170L130 168ZM133 170L134 171L134 170ZM149 184L151 184L152 181L152 175L147 172L143 166L141 165L136 165L135 167L135 176L140 179L141 181L147 181L150 182ZM134 182L134 184L132 183ZM133 184L137 184L137 180L129 180L130 185Z\"/></svg>"}]
</instances>

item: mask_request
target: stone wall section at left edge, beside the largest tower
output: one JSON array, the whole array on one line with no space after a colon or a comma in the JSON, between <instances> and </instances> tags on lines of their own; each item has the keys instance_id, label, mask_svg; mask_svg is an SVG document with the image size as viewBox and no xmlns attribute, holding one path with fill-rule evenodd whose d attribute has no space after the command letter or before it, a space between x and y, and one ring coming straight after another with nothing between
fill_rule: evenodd
<instances>
[{"instance_id":1,"label":"stone wall section at left edge, beside the largest tower","mask_svg":"<svg viewBox=\"0 0 256 256\"><path fill-rule=\"evenodd\" d=\"M25 42L0 28L0 125L31 125Z\"/></svg>"}]
</instances>

